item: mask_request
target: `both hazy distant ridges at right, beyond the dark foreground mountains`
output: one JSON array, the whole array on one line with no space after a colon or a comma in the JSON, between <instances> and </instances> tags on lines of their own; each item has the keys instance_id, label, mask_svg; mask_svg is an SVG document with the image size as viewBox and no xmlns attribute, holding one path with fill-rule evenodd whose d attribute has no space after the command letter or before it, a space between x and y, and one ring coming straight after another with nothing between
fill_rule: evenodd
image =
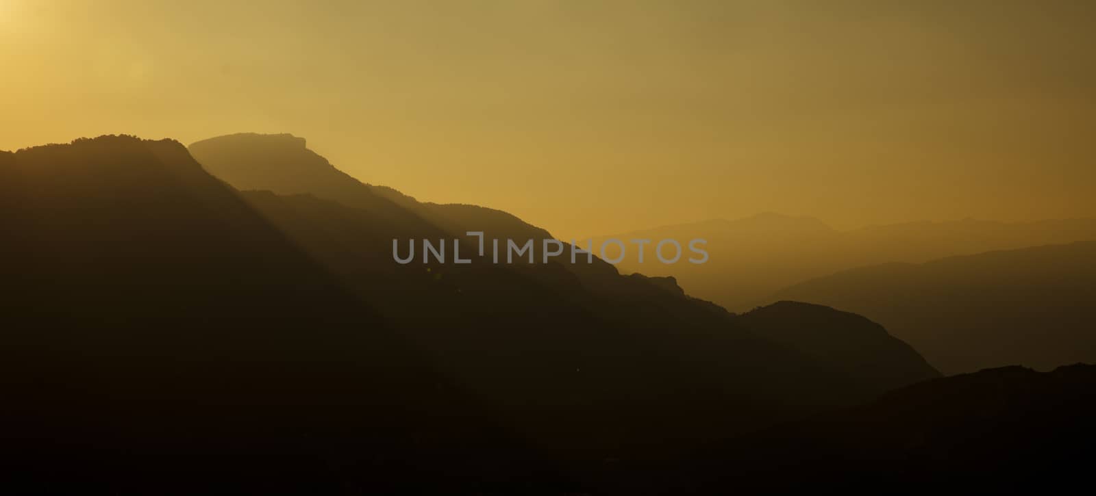
<instances>
[{"instance_id":1,"label":"both hazy distant ridges at right, beyond the dark foreground mountains","mask_svg":"<svg viewBox=\"0 0 1096 496\"><path fill-rule=\"evenodd\" d=\"M737 311L795 300L855 312L944 373L1096 361L1096 220L911 222L835 231L764 214L613 238L708 240L708 263L627 259Z\"/></svg>"}]
</instances>

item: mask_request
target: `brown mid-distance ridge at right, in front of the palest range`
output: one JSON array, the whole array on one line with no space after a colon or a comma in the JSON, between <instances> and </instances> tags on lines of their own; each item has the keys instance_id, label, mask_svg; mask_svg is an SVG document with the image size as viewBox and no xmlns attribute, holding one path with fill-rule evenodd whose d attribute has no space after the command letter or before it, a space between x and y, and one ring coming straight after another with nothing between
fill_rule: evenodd
<instances>
[{"instance_id":1,"label":"brown mid-distance ridge at right, in front of the palest range","mask_svg":"<svg viewBox=\"0 0 1096 496\"><path fill-rule=\"evenodd\" d=\"M1096 242L859 267L774 298L865 315L945 373L1096 361Z\"/></svg>"}]
</instances>

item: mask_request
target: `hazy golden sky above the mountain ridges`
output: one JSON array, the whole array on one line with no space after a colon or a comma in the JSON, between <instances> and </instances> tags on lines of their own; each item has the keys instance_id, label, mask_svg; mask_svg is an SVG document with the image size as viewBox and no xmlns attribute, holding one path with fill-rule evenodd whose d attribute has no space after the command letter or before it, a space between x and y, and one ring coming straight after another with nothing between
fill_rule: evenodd
<instances>
[{"instance_id":1,"label":"hazy golden sky above the mountain ridges","mask_svg":"<svg viewBox=\"0 0 1096 496\"><path fill-rule=\"evenodd\" d=\"M0 149L293 132L562 235L1096 216L1094 4L0 0Z\"/></svg>"}]
</instances>

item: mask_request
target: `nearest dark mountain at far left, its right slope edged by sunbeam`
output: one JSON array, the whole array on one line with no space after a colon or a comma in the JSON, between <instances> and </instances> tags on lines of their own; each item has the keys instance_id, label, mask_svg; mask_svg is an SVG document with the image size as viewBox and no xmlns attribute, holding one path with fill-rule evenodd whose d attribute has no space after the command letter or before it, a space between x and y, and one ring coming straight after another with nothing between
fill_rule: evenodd
<instances>
[{"instance_id":1,"label":"nearest dark mountain at far left, its right slope edged by sunbeam","mask_svg":"<svg viewBox=\"0 0 1096 496\"><path fill-rule=\"evenodd\" d=\"M4 492L431 492L547 464L178 142L2 153L0 231Z\"/></svg>"}]
</instances>

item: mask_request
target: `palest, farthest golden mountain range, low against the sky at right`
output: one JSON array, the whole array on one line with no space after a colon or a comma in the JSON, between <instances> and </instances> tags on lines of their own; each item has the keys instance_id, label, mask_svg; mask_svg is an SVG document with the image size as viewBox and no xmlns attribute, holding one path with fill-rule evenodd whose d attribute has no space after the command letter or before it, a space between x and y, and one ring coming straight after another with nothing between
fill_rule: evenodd
<instances>
[{"instance_id":1,"label":"palest, farthest golden mountain range, low against the sky at right","mask_svg":"<svg viewBox=\"0 0 1096 496\"><path fill-rule=\"evenodd\" d=\"M773 301L769 297L788 286L848 268L1096 240L1096 219L1037 222L967 219L838 231L811 217L761 214L732 221L709 220L596 237L595 246L607 239L623 240L629 249L618 264L623 272L673 276L689 295L738 312ZM652 240L648 251L664 239L677 240L683 246L689 240L704 239L709 259L704 264L683 259L664 265L647 255L639 263L638 249L629 242L633 239Z\"/></svg>"}]
</instances>

